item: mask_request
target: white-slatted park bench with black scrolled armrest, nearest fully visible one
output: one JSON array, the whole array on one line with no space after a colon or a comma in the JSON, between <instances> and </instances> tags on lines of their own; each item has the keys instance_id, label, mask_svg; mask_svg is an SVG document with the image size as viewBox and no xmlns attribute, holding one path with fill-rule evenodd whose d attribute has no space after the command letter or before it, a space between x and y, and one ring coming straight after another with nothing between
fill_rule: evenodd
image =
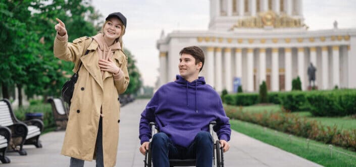
<instances>
[{"instance_id":1,"label":"white-slatted park bench with black scrolled armrest, nearest fully visible one","mask_svg":"<svg viewBox=\"0 0 356 167\"><path fill-rule=\"evenodd\" d=\"M12 110L8 99L0 100L0 126L8 127L11 130L11 142L8 148L26 155L27 152L22 148L23 145L35 145L41 148L39 136L43 130L43 122L39 119L32 119L21 122ZM18 148L18 146L20 148Z\"/></svg>"}]
</instances>

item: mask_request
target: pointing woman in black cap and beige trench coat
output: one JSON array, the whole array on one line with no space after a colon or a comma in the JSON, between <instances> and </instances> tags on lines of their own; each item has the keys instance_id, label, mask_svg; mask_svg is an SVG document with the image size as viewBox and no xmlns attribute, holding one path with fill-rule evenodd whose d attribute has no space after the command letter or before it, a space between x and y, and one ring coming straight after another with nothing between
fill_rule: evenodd
<instances>
[{"instance_id":1,"label":"pointing woman in black cap and beige trench coat","mask_svg":"<svg viewBox=\"0 0 356 167\"><path fill-rule=\"evenodd\" d=\"M96 158L96 166L115 166L119 139L118 97L129 84L127 57L122 50L126 18L112 13L97 35L68 42L65 24L55 26L55 56L75 64L75 84L61 154L70 166ZM81 65L81 66L80 66ZM103 160L105 159L105 161Z\"/></svg>"}]
</instances>

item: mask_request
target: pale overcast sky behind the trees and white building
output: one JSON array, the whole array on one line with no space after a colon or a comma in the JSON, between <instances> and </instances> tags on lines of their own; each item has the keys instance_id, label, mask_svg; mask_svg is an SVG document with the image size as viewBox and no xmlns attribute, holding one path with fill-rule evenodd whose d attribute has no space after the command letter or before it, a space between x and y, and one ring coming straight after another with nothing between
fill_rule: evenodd
<instances>
[{"instance_id":1,"label":"pale overcast sky behind the trees and white building","mask_svg":"<svg viewBox=\"0 0 356 167\"><path fill-rule=\"evenodd\" d=\"M156 41L164 30L208 30L209 0L92 0L105 19L121 12L127 18L125 47L134 55L143 84L155 86L159 75L159 51ZM304 23L309 30L331 29L334 20L339 28L356 28L356 0L304 0ZM178 53L177 53L178 55ZM178 66L178 58L177 58ZM177 67L178 68L178 67Z\"/></svg>"}]
</instances>

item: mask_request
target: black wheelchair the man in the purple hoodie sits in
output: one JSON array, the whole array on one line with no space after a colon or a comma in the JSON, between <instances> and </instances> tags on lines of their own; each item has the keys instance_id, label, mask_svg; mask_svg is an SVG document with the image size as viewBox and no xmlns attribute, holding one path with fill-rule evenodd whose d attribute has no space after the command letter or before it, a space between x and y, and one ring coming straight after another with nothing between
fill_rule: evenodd
<instances>
[{"instance_id":1,"label":"black wheelchair the man in the purple hoodie sits in","mask_svg":"<svg viewBox=\"0 0 356 167\"><path fill-rule=\"evenodd\" d=\"M213 134L213 127L216 125L215 121L209 123L209 131L213 138L214 143L214 134ZM151 127L151 134L152 137L158 133L156 128L156 123L151 122L149 123ZM144 167L152 167L152 154L151 154L151 142L149 142L148 150L146 150L144 156ZM224 150L220 147L219 140L216 140L213 146L213 167L224 167ZM173 166L195 166L196 160L195 159L169 159L170 167Z\"/></svg>"}]
</instances>

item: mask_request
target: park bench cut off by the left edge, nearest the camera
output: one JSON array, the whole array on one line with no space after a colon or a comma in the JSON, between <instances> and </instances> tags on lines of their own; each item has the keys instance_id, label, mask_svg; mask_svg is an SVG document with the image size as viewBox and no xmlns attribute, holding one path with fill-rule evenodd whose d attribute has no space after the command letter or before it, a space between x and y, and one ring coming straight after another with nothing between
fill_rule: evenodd
<instances>
[{"instance_id":1,"label":"park bench cut off by the left edge, nearest the camera","mask_svg":"<svg viewBox=\"0 0 356 167\"><path fill-rule=\"evenodd\" d=\"M0 126L0 160L2 163L10 163L10 159L5 156L11 140L11 131L7 127Z\"/></svg>"}]
</instances>

